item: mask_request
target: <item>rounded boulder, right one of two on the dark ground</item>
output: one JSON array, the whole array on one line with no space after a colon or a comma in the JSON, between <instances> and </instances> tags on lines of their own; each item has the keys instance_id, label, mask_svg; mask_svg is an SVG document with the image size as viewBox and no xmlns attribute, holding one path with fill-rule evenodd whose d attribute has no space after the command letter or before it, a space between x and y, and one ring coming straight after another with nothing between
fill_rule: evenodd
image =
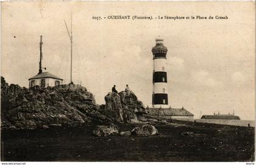
<instances>
[{"instance_id":1,"label":"rounded boulder, right one of two on the dark ground","mask_svg":"<svg viewBox=\"0 0 256 165\"><path fill-rule=\"evenodd\" d=\"M153 125L146 124L133 128L131 134L138 136L158 135L158 130Z\"/></svg>"}]
</instances>

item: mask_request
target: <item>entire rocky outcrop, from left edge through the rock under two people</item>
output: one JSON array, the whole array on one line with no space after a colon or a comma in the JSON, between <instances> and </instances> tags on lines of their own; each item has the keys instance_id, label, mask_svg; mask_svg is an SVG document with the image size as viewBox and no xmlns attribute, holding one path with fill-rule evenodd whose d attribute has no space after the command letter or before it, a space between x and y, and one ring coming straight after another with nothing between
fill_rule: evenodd
<instances>
[{"instance_id":1,"label":"entire rocky outcrop, from left edge through the rock under two people","mask_svg":"<svg viewBox=\"0 0 256 165\"><path fill-rule=\"evenodd\" d=\"M97 105L92 93L79 85L21 88L1 77L1 128L48 128L62 125L140 122L145 113L132 91L108 93Z\"/></svg>"}]
</instances>

